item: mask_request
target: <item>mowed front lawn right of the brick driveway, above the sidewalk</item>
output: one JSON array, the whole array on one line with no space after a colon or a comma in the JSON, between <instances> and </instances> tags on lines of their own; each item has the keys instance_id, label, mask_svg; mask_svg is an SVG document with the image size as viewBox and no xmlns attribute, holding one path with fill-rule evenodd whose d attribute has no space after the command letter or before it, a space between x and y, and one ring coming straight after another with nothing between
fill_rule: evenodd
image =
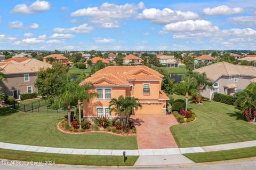
<instances>
[{"instance_id":1,"label":"mowed front lawn right of the brick driveway, above the sidewalk","mask_svg":"<svg viewBox=\"0 0 256 170\"><path fill-rule=\"evenodd\" d=\"M173 95L174 99L185 99ZM196 114L196 121L187 125L174 125L170 130L179 147L197 147L223 143L256 140L256 126L247 123L239 110L227 104L204 101L188 107Z\"/></svg>"}]
</instances>

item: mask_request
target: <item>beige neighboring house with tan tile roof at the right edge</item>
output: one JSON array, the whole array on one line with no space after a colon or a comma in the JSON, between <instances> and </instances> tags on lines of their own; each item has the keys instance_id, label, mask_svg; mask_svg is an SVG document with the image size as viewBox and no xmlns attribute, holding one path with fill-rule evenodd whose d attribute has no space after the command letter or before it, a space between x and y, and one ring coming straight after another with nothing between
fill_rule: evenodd
<instances>
[{"instance_id":1,"label":"beige neighboring house with tan tile roof at the right edge","mask_svg":"<svg viewBox=\"0 0 256 170\"><path fill-rule=\"evenodd\" d=\"M202 95L212 99L213 93L233 95L242 91L256 78L256 68L252 66L235 65L228 62L218 62L195 69L194 72L205 72L213 81L213 88L206 88Z\"/></svg>"}]
</instances>

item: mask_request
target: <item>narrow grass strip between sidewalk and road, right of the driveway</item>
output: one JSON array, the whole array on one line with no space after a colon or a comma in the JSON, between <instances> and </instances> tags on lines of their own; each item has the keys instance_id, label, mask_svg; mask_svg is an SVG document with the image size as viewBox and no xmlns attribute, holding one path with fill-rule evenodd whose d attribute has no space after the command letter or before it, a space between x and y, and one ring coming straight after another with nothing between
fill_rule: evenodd
<instances>
[{"instance_id":1,"label":"narrow grass strip between sidewalk and road, right of the driveway","mask_svg":"<svg viewBox=\"0 0 256 170\"><path fill-rule=\"evenodd\" d=\"M256 147L214 151L214 152L186 153L183 155L193 160L196 163L205 163L210 161L255 157Z\"/></svg>"}]
</instances>

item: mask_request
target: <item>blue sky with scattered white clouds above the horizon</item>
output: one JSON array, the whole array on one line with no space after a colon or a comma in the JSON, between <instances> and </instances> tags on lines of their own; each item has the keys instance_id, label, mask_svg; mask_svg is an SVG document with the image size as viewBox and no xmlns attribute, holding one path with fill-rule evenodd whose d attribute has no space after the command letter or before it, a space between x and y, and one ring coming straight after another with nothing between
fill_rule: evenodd
<instances>
[{"instance_id":1,"label":"blue sky with scattered white clouds above the horizon","mask_svg":"<svg viewBox=\"0 0 256 170\"><path fill-rule=\"evenodd\" d=\"M1 1L0 50L256 50L255 0Z\"/></svg>"}]
</instances>

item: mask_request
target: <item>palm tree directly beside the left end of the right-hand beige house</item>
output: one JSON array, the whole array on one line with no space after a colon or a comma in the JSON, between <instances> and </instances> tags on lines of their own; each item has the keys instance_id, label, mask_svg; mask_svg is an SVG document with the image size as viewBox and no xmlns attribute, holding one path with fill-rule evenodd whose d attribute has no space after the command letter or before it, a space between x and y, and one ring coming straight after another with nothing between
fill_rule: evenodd
<instances>
[{"instance_id":1,"label":"palm tree directly beside the left end of the right-hand beige house","mask_svg":"<svg viewBox=\"0 0 256 170\"><path fill-rule=\"evenodd\" d=\"M212 81L210 78L208 78L205 74L203 73L195 73L192 75L197 82L197 87L198 87L198 94L199 98L201 98L201 92L206 89L206 87L212 87ZM199 103L201 103L201 100L199 100Z\"/></svg>"}]
</instances>

